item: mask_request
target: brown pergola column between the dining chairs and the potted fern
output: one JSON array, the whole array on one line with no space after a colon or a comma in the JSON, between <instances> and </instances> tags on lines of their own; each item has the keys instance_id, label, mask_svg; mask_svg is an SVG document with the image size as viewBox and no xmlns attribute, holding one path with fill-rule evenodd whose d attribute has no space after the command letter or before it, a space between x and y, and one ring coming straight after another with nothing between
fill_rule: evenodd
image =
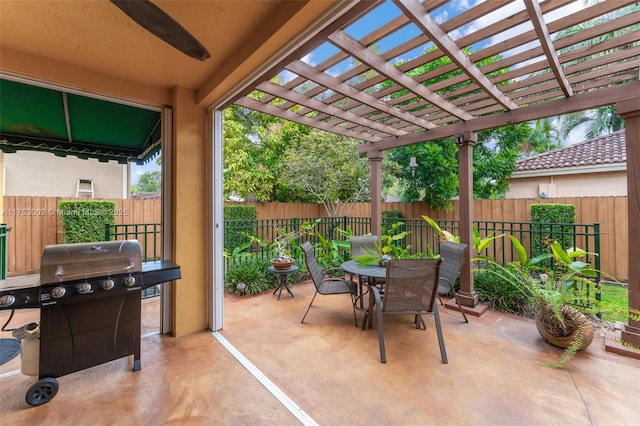
<instances>
[{"instance_id":1,"label":"brown pergola column between the dining chairs and the potted fern","mask_svg":"<svg viewBox=\"0 0 640 426\"><path fill-rule=\"evenodd\" d=\"M465 132L455 136L458 145L458 181L460 210L460 242L467 245L467 256L460 270L460 304L475 308L478 294L473 289L471 258L473 257L473 146L478 142L476 132Z\"/></svg>"}]
</instances>

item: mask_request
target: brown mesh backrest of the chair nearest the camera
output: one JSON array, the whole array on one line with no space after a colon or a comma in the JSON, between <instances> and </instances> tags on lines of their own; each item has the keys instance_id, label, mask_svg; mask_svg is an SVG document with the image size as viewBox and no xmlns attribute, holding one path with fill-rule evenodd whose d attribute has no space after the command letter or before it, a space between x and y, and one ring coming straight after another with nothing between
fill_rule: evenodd
<instances>
[{"instance_id":1,"label":"brown mesh backrest of the chair nearest the camera","mask_svg":"<svg viewBox=\"0 0 640 426\"><path fill-rule=\"evenodd\" d=\"M387 263L382 312L433 312L441 259L392 259Z\"/></svg>"}]
</instances>

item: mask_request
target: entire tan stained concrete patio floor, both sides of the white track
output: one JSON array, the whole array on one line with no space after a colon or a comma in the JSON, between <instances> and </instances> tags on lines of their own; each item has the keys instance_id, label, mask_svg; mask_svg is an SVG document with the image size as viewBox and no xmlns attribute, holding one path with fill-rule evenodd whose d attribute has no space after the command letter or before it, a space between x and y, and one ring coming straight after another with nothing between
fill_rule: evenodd
<instances>
[{"instance_id":1,"label":"entire tan stained concrete patio floor, both sides of the white track","mask_svg":"<svg viewBox=\"0 0 640 426\"><path fill-rule=\"evenodd\" d=\"M640 424L640 361L605 352L604 338L553 370L538 363L557 359L561 350L543 342L532 321L490 312L465 324L459 312L441 309L449 364L440 360L433 319L425 318L423 331L402 316L385 318L387 364L381 364L375 325L354 327L348 296L317 296L301 324L313 285L292 290L295 298L283 294L281 300L271 292L227 296L219 334L302 416L203 331L146 337L142 370L131 372L132 361L121 359L63 376L58 395L41 407L24 402L32 379L5 375L0 423ZM147 303L145 316L157 316L156 306Z\"/></svg>"}]
</instances>

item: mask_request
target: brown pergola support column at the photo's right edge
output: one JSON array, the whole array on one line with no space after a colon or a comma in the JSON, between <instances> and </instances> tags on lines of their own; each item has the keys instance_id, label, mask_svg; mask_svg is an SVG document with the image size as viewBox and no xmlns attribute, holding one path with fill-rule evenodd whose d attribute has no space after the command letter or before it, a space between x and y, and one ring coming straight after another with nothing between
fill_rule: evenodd
<instances>
[{"instance_id":1,"label":"brown pergola support column at the photo's right edge","mask_svg":"<svg viewBox=\"0 0 640 426\"><path fill-rule=\"evenodd\" d=\"M640 347L640 265L637 261L640 253L640 98L619 102L616 105L618 115L624 118L625 140L627 146L627 191L629 205L629 320L622 328L624 342ZM636 319L632 318L632 315ZM606 349L623 355L640 358L640 351L607 342Z\"/></svg>"}]
</instances>

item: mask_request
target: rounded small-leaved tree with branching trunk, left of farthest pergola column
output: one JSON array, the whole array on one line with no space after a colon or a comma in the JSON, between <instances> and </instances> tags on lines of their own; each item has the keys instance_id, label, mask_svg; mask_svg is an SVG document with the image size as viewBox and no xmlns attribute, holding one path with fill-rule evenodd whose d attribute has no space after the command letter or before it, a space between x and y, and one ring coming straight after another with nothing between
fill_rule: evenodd
<instances>
[{"instance_id":1,"label":"rounded small-leaved tree with branching trunk, left of farthest pergola column","mask_svg":"<svg viewBox=\"0 0 640 426\"><path fill-rule=\"evenodd\" d=\"M360 141L315 129L298 136L281 175L292 198L322 203L330 217L369 200L369 161L355 149Z\"/></svg>"}]
</instances>

